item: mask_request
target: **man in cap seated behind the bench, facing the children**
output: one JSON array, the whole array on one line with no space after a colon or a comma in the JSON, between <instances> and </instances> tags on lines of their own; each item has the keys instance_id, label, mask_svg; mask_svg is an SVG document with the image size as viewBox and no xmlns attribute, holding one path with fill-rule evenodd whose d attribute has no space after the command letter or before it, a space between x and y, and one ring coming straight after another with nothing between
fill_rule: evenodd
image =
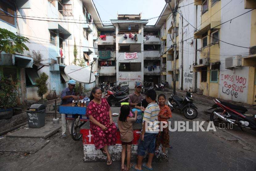
<instances>
[{"instance_id":1,"label":"man in cap seated behind the bench, facing the children","mask_svg":"<svg viewBox=\"0 0 256 171\"><path fill-rule=\"evenodd\" d=\"M129 107L132 109L138 102L141 102L144 97L142 96L141 92L142 85L140 83L135 84L135 91L134 93L130 94L129 98Z\"/></svg>"}]
</instances>

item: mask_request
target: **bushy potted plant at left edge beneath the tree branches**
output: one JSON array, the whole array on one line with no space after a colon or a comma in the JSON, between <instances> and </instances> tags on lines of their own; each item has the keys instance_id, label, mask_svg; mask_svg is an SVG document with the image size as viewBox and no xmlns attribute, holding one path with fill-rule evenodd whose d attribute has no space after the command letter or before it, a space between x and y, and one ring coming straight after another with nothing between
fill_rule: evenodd
<instances>
[{"instance_id":1,"label":"bushy potted plant at left edge beneath the tree branches","mask_svg":"<svg viewBox=\"0 0 256 171\"><path fill-rule=\"evenodd\" d=\"M0 77L0 119L11 118L20 102L19 80Z\"/></svg>"}]
</instances>

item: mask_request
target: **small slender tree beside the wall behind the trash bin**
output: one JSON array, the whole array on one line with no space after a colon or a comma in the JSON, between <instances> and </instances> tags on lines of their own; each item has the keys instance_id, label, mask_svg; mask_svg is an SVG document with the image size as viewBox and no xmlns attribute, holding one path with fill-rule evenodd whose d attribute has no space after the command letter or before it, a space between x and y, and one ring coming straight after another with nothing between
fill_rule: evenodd
<instances>
[{"instance_id":1,"label":"small slender tree beside the wall behind the trash bin","mask_svg":"<svg viewBox=\"0 0 256 171\"><path fill-rule=\"evenodd\" d=\"M40 77L35 80L36 86L38 87L36 92L38 97L41 97L41 99L43 99L43 95L48 91L48 83L46 83L48 78L49 76L47 74L42 73Z\"/></svg>"}]
</instances>

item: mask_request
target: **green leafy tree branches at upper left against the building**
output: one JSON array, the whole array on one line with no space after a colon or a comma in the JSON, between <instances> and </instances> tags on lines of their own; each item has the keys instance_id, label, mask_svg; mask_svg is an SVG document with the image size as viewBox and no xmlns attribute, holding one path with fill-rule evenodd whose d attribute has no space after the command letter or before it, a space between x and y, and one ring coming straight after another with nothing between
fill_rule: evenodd
<instances>
[{"instance_id":1,"label":"green leafy tree branches at upper left against the building","mask_svg":"<svg viewBox=\"0 0 256 171\"><path fill-rule=\"evenodd\" d=\"M14 54L16 52L23 54L24 50L29 50L24 44L28 42L28 38L19 36L9 30L0 28L0 54Z\"/></svg>"}]
</instances>

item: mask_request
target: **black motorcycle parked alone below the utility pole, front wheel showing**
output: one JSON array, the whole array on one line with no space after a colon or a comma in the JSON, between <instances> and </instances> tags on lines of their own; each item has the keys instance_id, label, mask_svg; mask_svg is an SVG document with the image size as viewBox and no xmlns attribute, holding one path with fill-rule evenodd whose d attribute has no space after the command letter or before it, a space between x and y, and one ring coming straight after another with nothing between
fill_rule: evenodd
<instances>
[{"instance_id":1,"label":"black motorcycle parked alone below the utility pole, front wheel showing","mask_svg":"<svg viewBox=\"0 0 256 171\"><path fill-rule=\"evenodd\" d=\"M168 106L171 111L174 109L179 110L180 113L184 114L184 117L187 119L195 119L198 115L197 107L193 104L192 93L186 91L186 97L184 100L174 94L171 94L171 98L169 98Z\"/></svg>"}]
</instances>

